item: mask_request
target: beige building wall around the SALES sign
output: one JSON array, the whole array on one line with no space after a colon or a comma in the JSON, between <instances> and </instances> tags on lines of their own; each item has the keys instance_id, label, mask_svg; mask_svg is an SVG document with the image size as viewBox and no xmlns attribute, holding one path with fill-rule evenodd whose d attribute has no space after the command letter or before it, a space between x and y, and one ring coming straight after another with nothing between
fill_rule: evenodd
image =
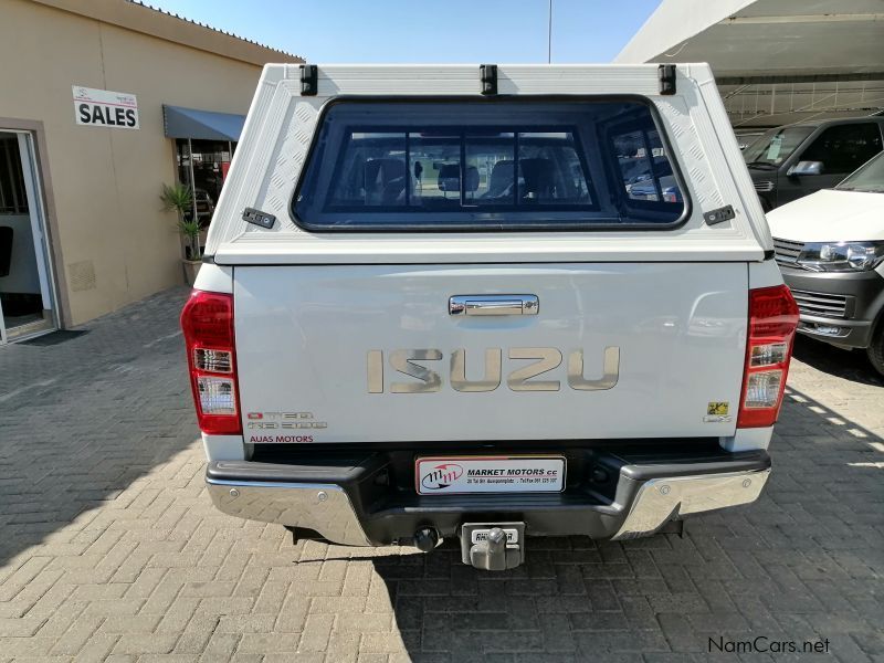
<instances>
[{"instance_id":1,"label":"beige building wall around the SALES sign","mask_svg":"<svg viewBox=\"0 0 884 663\"><path fill-rule=\"evenodd\" d=\"M162 104L244 114L260 67L30 0L0 0L0 128L41 122L66 325L183 282ZM140 129L78 126L72 85L137 95ZM94 281L91 278L94 272Z\"/></svg>"}]
</instances>

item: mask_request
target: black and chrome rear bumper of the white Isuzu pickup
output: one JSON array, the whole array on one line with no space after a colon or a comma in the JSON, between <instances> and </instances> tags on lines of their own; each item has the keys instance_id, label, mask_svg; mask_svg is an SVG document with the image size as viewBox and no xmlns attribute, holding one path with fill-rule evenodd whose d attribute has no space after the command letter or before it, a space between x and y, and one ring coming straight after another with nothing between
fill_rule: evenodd
<instances>
[{"instance_id":1,"label":"black and chrome rear bumper of the white Isuzu pickup","mask_svg":"<svg viewBox=\"0 0 884 663\"><path fill-rule=\"evenodd\" d=\"M556 494L421 496L387 452L314 452L290 463L218 461L209 464L207 484L225 514L372 546L409 541L423 527L453 537L469 522L524 522L533 536L636 538L690 514L749 504L770 473L765 451L569 453L582 457L569 460L568 486Z\"/></svg>"}]
</instances>

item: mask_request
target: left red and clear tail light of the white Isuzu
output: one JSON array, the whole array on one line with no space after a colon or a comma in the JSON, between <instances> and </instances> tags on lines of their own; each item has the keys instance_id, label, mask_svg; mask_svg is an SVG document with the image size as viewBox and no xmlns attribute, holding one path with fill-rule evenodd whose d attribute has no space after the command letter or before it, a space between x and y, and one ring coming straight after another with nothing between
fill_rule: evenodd
<instances>
[{"instance_id":1,"label":"left red and clear tail light of the white Isuzu","mask_svg":"<svg viewBox=\"0 0 884 663\"><path fill-rule=\"evenodd\" d=\"M190 387L203 433L242 433L233 295L194 290L181 312Z\"/></svg>"}]
</instances>

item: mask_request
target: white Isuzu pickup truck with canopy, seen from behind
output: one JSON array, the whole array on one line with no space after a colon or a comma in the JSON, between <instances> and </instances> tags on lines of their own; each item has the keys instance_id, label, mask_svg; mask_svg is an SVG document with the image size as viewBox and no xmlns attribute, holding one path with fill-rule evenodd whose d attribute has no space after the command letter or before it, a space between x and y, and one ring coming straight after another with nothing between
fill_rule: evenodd
<instances>
[{"instance_id":1,"label":"white Isuzu pickup truck with canopy, seen from behind","mask_svg":"<svg viewBox=\"0 0 884 663\"><path fill-rule=\"evenodd\" d=\"M267 65L206 255L227 514L498 570L768 478L798 309L705 64Z\"/></svg>"}]
</instances>

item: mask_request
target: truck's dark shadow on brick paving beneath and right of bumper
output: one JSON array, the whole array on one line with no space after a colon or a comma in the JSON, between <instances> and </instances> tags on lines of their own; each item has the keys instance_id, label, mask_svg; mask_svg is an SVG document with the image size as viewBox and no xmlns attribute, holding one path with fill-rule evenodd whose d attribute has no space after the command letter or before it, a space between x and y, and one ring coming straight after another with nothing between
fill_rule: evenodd
<instances>
[{"instance_id":1,"label":"truck's dark shadow on brick paving beneath and right of bumper","mask_svg":"<svg viewBox=\"0 0 884 663\"><path fill-rule=\"evenodd\" d=\"M703 661L759 635L799 654L828 639L827 660L882 651L882 439L790 389L771 454L759 502L693 518L684 538L528 539L501 573L463 566L456 540L373 558L409 656Z\"/></svg>"}]
</instances>

